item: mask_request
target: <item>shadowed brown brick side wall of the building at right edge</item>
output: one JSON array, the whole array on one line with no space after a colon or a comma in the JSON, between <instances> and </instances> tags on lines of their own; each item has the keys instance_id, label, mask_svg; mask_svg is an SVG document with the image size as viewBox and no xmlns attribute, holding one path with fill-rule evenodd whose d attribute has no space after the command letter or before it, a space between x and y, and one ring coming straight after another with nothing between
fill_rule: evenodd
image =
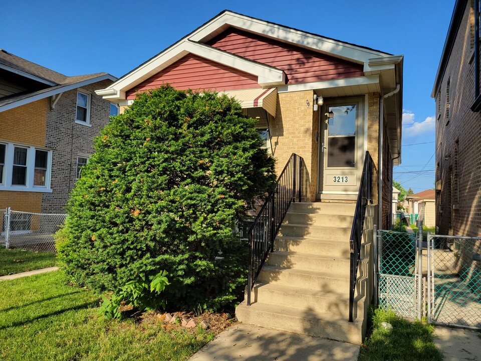
<instances>
[{"instance_id":1,"label":"shadowed brown brick side wall of the building at right edge","mask_svg":"<svg viewBox=\"0 0 481 361\"><path fill-rule=\"evenodd\" d=\"M464 15L436 100L436 226L440 234L481 236L481 113L474 102L474 61L469 12ZM446 93L449 79L449 116ZM455 141L458 139L457 169ZM452 169L451 177L449 168ZM443 212L439 213L442 205ZM454 206L453 205L457 205Z\"/></svg>"}]
</instances>

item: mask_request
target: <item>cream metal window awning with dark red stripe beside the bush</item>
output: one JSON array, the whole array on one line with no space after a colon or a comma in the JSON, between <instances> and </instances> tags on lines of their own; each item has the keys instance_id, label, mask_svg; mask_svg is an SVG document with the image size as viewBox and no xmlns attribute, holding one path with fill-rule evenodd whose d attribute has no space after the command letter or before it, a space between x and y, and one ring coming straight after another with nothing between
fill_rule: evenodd
<instances>
[{"instance_id":1,"label":"cream metal window awning with dark red stripe beside the bush","mask_svg":"<svg viewBox=\"0 0 481 361\"><path fill-rule=\"evenodd\" d=\"M222 93L238 100L243 108L260 107L276 116L277 88L226 90Z\"/></svg>"}]
</instances>

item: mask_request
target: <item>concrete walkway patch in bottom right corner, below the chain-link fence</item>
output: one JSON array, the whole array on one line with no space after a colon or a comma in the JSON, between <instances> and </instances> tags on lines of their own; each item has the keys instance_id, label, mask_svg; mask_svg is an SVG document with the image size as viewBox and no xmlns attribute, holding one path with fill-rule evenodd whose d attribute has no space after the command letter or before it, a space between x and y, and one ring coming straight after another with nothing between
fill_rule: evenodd
<instances>
[{"instance_id":1,"label":"concrete walkway patch in bottom right corner, below the chain-link fence","mask_svg":"<svg viewBox=\"0 0 481 361\"><path fill-rule=\"evenodd\" d=\"M436 326L434 343L444 361L481 361L481 332L463 328Z\"/></svg>"}]
</instances>

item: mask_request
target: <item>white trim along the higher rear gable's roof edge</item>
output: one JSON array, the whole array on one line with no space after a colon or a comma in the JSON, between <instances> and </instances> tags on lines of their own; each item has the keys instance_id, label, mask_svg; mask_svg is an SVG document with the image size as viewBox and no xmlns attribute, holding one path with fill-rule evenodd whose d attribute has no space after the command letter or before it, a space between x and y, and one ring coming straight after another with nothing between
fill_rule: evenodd
<instances>
[{"instance_id":1,"label":"white trim along the higher rear gable's roof edge","mask_svg":"<svg viewBox=\"0 0 481 361\"><path fill-rule=\"evenodd\" d=\"M203 42L222 33L229 26L247 32L263 35L271 39L291 43L317 52L329 54L358 64L367 63L370 58L389 56L386 53L358 47L333 39L253 19L244 15L225 12L194 31L189 39Z\"/></svg>"}]
</instances>

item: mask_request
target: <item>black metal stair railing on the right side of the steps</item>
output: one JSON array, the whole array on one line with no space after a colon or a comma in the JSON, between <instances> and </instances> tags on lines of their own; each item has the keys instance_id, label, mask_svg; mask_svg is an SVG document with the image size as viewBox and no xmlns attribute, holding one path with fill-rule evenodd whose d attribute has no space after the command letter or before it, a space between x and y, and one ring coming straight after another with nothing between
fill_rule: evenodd
<instances>
[{"instance_id":1,"label":"black metal stair railing on the right side of the steps","mask_svg":"<svg viewBox=\"0 0 481 361\"><path fill-rule=\"evenodd\" d=\"M353 321L354 295L356 291L357 269L361 259L361 241L362 231L364 227L364 217L368 202L373 201L373 171L374 162L371 155L366 151L364 157L364 165L362 168L361 184L359 186L359 194L357 196L356 210L354 212L354 220L352 222L351 237L349 238L349 247L351 250L351 265L349 277L349 322Z\"/></svg>"}]
</instances>

